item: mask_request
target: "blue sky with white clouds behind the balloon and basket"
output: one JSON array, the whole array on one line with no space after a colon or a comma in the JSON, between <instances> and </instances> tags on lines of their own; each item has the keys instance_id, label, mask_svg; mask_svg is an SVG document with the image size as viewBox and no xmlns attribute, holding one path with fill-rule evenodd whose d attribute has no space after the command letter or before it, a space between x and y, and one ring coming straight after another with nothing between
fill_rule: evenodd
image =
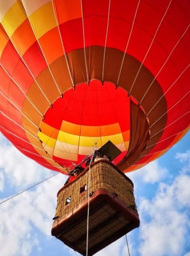
<instances>
[{"instance_id":1,"label":"blue sky with white clouds behind the balloon and basket","mask_svg":"<svg viewBox=\"0 0 190 256\"><path fill-rule=\"evenodd\" d=\"M128 174L141 224L127 234L131 256L190 256L190 132L162 158ZM53 176L0 134L0 202ZM79 255L51 236L58 174L0 204L0 255ZM125 236L95 254L126 256Z\"/></svg>"}]
</instances>

